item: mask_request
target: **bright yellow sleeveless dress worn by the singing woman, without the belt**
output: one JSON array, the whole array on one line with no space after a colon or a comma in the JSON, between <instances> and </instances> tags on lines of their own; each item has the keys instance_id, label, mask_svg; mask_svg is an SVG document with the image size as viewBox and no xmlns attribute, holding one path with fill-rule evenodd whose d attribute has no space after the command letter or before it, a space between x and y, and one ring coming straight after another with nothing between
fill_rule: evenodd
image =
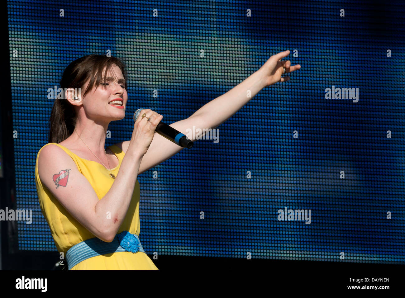
<instances>
[{"instance_id":1,"label":"bright yellow sleeveless dress worn by the singing woman, without the belt","mask_svg":"<svg viewBox=\"0 0 405 298\"><path fill-rule=\"evenodd\" d=\"M102 164L80 158L66 147L57 143L48 143L42 148L50 144L59 146L70 155L77 165L79 172L81 172L92 185L99 200L107 194L114 180L110 177L110 172L107 171ZM66 252L70 247L87 239L94 238L95 236L70 215L62 204L52 195L49 189L41 183L38 175L38 156L42 148L38 151L35 164L35 183L39 204L49 224L58 251L63 252L63 255L66 256ZM118 158L118 165L111 169L111 172L117 176L125 153L115 145L109 146L108 148L111 149ZM50 179L52 179L52 177ZM128 191L130 190L128 189ZM139 236L139 191L139 182L136 180L128 212L117 234L126 230L131 234ZM140 238L140 240L142 244L142 238ZM89 258L80 262L71 270L158 270L158 268L153 264L148 255L142 251L138 251L137 253L121 251Z\"/></svg>"}]
</instances>

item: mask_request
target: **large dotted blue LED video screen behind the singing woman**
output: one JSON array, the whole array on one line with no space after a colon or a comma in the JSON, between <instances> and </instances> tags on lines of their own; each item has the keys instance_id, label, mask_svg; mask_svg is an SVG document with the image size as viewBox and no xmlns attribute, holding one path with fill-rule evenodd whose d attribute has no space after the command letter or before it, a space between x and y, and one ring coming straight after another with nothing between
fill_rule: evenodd
<instances>
[{"instance_id":1,"label":"large dotted blue LED video screen behind the singing woman","mask_svg":"<svg viewBox=\"0 0 405 298\"><path fill-rule=\"evenodd\" d=\"M343 251L348 262L404 264L405 4L9 1L8 9L17 207L34 213L32 224L19 223L19 249L56 250L35 159L47 143L47 89L71 61L109 49L128 65L127 115L110 124L108 146L130 139L136 109L179 121L289 49L301 70L219 126L219 143L199 140L139 176L145 251L325 261ZM325 99L332 85L359 88L359 101ZM311 224L278 221L285 206L311 209Z\"/></svg>"}]
</instances>

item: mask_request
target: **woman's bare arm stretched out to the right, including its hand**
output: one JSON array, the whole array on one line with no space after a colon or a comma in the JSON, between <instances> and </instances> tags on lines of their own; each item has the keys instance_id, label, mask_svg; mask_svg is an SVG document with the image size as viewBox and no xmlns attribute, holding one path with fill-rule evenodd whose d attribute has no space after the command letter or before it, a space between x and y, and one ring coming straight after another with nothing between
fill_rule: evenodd
<instances>
[{"instance_id":1,"label":"woman's bare arm stretched out to the right, including its hand","mask_svg":"<svg viewBox=\"0 0 405 298\"><path fill-rule=\"evenodd\" d=\"M259 70L250 75L242 83L239 83L239 85L230 89L225 94L211 100L187 119L174 122L170 124L170 126L185 135L188 135L187 129L193 130L193 126L201 130L220 126L264 87L277 82L288 81L290 77L281 77L283 68L286 68L286 73L301 68L299 64L291 66L289 60L281 61L281 59L288 56L289 53L290 51L287 50L271 56ZM250 97L248 95L250 95ZM164 120L164 118L162 120ZM193 136L189 137L193 142L196 141ZM126 152L128 145L129 141L122 143L122 150L124 152ZM155 136L153 136L147 153L143 156L141 165L139 166L139 174L168 160L181 149L183 149L183 147L176 145L156 133Z\"/></svg>"}]
</instances>

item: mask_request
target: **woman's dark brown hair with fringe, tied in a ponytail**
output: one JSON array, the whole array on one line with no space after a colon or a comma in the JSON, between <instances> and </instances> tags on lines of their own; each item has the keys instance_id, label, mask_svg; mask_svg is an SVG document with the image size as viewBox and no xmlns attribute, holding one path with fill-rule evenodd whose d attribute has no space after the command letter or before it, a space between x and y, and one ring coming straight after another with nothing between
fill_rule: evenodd
<instances>
[{"instance_id":1,"label":"woman's dark brown hair with fringe, tied in a ponytail","mask_svg":"<svg viewBox=\"0 0 405 298\"><path fill-rule=\"evenodd\" d=\"M127 72L124 62L116 57L107 57L105 55L87 55L81 57L66 67L60 80L60 87L65 88L83 88L85 82L90 79L89 85L84 97L93 87L100 85L102 72L105 68L104 79L107 77L107 71L111 66L117 65L124 75L125 89L127 88ZM48 143L60 143L66 140L74 131L76 125L76 113L73 105L65 99L55 98L51 117L49 118L49 141Z\"/></svg>"}]
</instances>

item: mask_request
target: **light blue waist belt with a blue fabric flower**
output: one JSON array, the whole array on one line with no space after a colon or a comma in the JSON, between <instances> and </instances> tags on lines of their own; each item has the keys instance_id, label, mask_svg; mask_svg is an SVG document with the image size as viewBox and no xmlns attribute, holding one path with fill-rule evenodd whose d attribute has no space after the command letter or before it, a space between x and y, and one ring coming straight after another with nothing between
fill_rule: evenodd
<instances>
[{"instance_id":1,"label":"light blue waist belt with a blue fabric flower","mask_svg":"<svg viewBox=\"0 0 405 298\"><path fill-rule=\"evenodd\" d=\"M68 270L88 258L120 251L132 253L138 251L145 252L138 235L131 234L128 231L115 235L114 240L111 242L102 241L97 237L91 238L73 245L67 251L66 262L68 263Z\"/></svg>"}]
</instances>

